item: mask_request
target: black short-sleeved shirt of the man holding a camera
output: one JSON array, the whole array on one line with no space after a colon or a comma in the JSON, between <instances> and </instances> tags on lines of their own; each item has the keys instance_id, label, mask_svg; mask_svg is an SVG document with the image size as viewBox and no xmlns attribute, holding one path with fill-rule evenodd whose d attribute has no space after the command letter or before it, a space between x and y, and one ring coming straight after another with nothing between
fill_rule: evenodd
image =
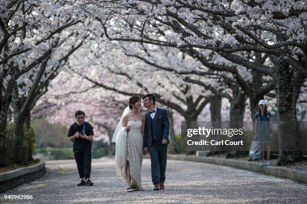
<instances>
[{"instance_id":1,"label":"black short-sleeved shirt of the man holding a camera","mask_svg":"<svg viewBox=\"0 0 307 204\"><path fill-rule=\"evenodd\" d=\"M94 131L93 131L93 127L90 123L85 122L85 134L87 136L89 135L94 135ZM68 130L68 135L67 136L72 136L76 133L76 131L78 132L82 132L82 128L83 128L83 124L78 125L77 122L73 123ZM73 141L73 149L74 152L83 152L83 151L90 151L92 148L92 141L87 140L87 139L83 139L81 137L76 137L75 140Z\"/></svg>"}]
</instances>

